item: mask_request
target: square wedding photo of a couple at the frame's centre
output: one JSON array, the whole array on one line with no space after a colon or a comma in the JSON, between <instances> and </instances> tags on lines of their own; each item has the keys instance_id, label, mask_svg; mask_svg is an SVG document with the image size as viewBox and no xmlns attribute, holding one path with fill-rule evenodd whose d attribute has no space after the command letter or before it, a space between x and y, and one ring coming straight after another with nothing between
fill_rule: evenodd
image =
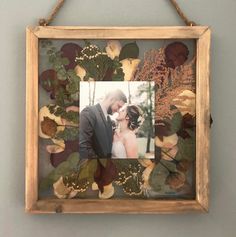
<instances>
[{"instance_id":1,"label":"square wedding photo of a couple at the frame's centre","mask_svg":"<svg viewBox=\"0 0 236 237\"><path fill-rule=\"evenodd\" d=\"M153 127L145 126L145 120L150 119L145 113L152 113L147 110L153 110L154 98L150 102L150 95L142 92L150 83L112 82L112 87L108 82L91 83L80 86L80 158L137 159L147 158L145 154L154 158ZM150 131L139 131L143 125Z\"/></svg>"}]
</instances>

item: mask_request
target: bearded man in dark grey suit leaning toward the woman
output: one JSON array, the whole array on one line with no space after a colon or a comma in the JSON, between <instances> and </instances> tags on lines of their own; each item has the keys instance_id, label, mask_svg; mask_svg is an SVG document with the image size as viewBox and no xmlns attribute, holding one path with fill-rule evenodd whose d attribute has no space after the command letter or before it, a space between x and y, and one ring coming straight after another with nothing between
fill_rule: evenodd
<instances>
[{"instance_id":1,"label":"bearded man in dark grey suit leaning toward the woman","mask_svg":"<svg viewBox=\"0 0 236 237\"><path fill-rule=\"evenodd\" d=\"M79 131L81 159L111 158L113 134L109 114L118 112L125 103L125 94L115 90L109 92L101 103L82 110Z\"/></svg>"}]
</instances>

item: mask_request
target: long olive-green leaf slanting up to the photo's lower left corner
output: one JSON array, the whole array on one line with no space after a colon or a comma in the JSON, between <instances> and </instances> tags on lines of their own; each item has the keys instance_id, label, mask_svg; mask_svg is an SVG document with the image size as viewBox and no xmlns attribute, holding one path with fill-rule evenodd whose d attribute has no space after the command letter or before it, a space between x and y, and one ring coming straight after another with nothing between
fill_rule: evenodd
<instances>
[{"instance_id":1,"label":"long olive-green leaf slanting up to the photo's lower left corner","mask_svg":"<svg viewBox=\"0 0 236 237\"><path fill-rule=\"evenodd\" d=\"M44 191L50 187L52 187L53 183L55 183L61 176L68 175L70 172L77 168L77 164L79 162L79 153L72 153L68 159L58 165L47 177L42 179L39 184L40 191Z\"/></svg>"}]
</instances>

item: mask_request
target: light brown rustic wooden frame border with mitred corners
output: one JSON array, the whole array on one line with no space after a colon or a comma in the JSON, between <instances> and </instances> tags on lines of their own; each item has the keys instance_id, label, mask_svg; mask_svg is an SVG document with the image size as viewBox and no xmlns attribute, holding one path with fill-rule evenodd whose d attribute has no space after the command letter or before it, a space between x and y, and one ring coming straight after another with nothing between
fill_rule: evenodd
<instances>
[{"instance_id":1,"label":"light brown rustic wooden frame border with mitred corners","mask_svg":"<svg viewBox=\"0 0 236 237\"><path fill-rule=\"evenodd\" d=\"M206 26L27 28L25 210L29 213L182 213L209 206L210 37ZM39 39L196 39L196 198L195 200L38 199Z\"/></svg>"}]
</instances>

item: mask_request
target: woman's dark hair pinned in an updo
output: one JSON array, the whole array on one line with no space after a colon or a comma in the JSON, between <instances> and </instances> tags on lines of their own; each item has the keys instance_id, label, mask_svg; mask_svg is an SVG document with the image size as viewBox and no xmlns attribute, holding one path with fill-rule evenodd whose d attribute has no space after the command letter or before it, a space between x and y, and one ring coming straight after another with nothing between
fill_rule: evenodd
<instances>
[{"instance_id":1,"label":"woman's dark hair pinned in an updo","mask_svg":"<svg viewBox=\"0 0 236 237\"><path fill-rule=\"evenodd\" d=\"M142 122L141 109L136 105L128 105L126 110L127 117L129 118L128 128L132 131L139 128Z\"/></svg>"}]
</instances>

